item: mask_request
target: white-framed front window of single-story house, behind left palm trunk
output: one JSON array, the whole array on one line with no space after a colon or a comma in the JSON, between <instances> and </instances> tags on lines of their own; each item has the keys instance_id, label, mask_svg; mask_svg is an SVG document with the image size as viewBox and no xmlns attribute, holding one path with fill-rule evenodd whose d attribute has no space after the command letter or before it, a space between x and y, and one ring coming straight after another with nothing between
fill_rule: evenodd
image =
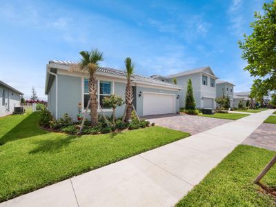
<instances>
[{"instance_id":1,"label":"white-framed front window of single-story house, behind left palm trunk","mask_svg":"<svg viewBox=\"0 0 276 207\"><path fill-rule=\"evenodd\" d=\"M89 89L88 89L88 79L84 79L83 80L84 83L84 90L83 90L83 110L86 109L86 106L88 104L88 101L90 99L89 96ZM99 81L99 85L98 85L98 92L97 92L97 96L98 96L98 100L99 100L99 104L101 106L101 108L109 108L108 106L104 106L103 105L103 98L104 97L108 97L111 95L111 82L109 81ZM90 106L88 106L88 108L90 109Z\"/></svg>"}]
</instances>

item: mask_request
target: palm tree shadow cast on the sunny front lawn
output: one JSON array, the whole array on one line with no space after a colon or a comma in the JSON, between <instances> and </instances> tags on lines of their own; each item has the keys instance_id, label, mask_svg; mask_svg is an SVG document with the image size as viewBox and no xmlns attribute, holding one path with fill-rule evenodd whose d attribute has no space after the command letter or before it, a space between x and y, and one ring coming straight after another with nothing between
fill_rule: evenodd
<instances>
[{"instance_id":1,"label":"palm tree shadow cast on the sunny front lawn","mask_svg":"<svg viewBox=\"0 0 276 207\"><path fill-rule=\"evenodd\" d=\"M68 135L66 138L34 141L33 144L37 144L37 148L31 150L29 154L37 154L41 152L58 152L61 148L68 146L72 139L75 139L77 137L79 136Z\"/></svg>"}]
</instances>

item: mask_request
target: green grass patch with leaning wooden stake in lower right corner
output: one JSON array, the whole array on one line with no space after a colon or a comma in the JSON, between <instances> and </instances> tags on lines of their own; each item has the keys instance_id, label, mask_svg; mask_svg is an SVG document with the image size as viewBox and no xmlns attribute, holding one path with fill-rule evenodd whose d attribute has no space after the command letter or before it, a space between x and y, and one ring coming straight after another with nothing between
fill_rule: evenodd
<instances>
[{"instance_id":1,"label":"green grass patch with leaning wooden stake in lower right corner","mask_svg":"<svg viewBox=\"0 0 276 207\"><path fill-rule=\"evenodd\" d=\"M181 199L177 206L276 206L273 197L261 193L253 180L275 152L253 146L237 146L230 155ZM276 188L276 166L262 183Z\"/></svg>"}]
</instances>

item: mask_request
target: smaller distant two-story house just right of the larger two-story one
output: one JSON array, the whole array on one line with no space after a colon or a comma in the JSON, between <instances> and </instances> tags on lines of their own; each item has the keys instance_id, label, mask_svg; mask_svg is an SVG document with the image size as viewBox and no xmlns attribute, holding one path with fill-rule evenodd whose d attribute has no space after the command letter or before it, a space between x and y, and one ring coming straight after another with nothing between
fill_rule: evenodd
<instances>
[{"instance_id":1,"label":"smaller distant two-story house just right of the larger two-story one","mask_svg":"<svg viewBox=\"0 0 276 207\"><path fill-rule=\"evenodd\" d=\"M230 107L234 107L234 84L228 81L217 80L217 98L223 95L230 98Z\"/></svg>"}]
</instances>

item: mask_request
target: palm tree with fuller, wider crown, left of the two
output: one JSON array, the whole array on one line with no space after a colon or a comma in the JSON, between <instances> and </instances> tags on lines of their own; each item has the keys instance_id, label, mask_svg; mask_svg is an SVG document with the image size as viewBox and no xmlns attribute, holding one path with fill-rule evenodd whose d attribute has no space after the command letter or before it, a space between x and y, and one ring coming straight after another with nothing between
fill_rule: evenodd
<instances>
[{"instance_id":1,"label":"palm tree with fuller, wider crown, left of the two","mask_svg":"<svg viewBox=\"0 0 276 207\"><path fill-rule=\"evenodd\" d=\"M98 84L97 79L95 78L95 72L99 67L99 61L103 61L103 52L100 52L98 49L88 51L79 52L81 55L81 61L79 62L79 66L81 70L86 70L90 74L90 78L88 81L89 95L90 95L90 110L91 110L91 126L95 126L98 124L98 116L97 116L97 90Z\"/></svg>"}]
</instances>

